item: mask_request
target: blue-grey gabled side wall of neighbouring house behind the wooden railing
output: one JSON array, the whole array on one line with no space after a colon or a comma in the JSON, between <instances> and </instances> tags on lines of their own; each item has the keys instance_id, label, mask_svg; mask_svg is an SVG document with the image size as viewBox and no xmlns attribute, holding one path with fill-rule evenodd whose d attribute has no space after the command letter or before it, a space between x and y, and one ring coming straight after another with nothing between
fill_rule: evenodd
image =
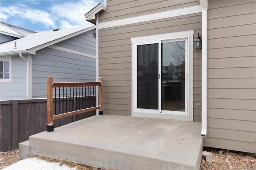
<instances>
[{"instance_id":1,"label":"blue-grey gabled side wall of neighbouring house behind the wooden railing","mask_svg":"<svg viewBox=\"0 0 256 170\"><path fill-rule=\"evenodd\" d=\"M46 98L47 76L54 82L96 81L92 31L95 29L36 51L32 56L32 98Z\"/></svg>"}]
</instances>

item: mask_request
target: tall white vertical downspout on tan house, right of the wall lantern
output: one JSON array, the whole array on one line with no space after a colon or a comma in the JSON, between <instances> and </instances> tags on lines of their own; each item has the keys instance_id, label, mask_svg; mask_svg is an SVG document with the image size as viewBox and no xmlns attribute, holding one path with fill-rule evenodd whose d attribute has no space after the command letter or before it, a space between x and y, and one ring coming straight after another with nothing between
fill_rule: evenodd
<instances>
[{"instance_id":1,"label":"tall white vertical downspout on tan house, right of the wall lantern","mask_svg":"<svg viewBox=\"0 0 256 170\"><path fill-rule=\"evenodd\" d=\"M202 130L201 137L207 134L207 6L208 0L200 0L202 7Z\"/></svg>"}]
</instances>

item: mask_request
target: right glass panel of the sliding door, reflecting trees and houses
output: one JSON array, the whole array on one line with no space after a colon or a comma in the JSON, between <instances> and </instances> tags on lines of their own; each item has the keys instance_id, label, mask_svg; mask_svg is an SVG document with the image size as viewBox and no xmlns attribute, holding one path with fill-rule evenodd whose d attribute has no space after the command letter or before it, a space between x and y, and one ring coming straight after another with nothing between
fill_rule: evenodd
<instances>
[{"instance_id":1,"label":"right glass panel of the sliding door, reflecting trees and houses","mask_svg":"<svg viewBox=\"0 0 256 170\"><path fill-rule=\"evenodd\" d=\"M161 109L185 111L186 41L162 43Z\"/></svg>"}]
</instances>

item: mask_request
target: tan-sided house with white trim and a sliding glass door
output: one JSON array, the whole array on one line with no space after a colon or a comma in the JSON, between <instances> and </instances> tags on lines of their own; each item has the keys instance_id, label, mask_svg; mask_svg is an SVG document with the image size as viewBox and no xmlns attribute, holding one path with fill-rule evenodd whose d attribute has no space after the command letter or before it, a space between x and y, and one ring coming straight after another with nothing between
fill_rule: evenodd
<instances>
[{"instance_id":1,"label":"tan-sided house with white trim and a sliding glass door","mask_svg":"<svg viewBox=\"0 0 256 170\"><path fill-rule=\"evenodd\" d=\"M204 146L256 153L255 0L105 0L85 17L97 27L104 114L202 121ZM193 48L198 33L202 50ZM161 55L179 51L184 88L166 100ZM150 61L157 83L142 72ZM139 98L145 89L154 98Z\"/></svg>"}]
</instances>

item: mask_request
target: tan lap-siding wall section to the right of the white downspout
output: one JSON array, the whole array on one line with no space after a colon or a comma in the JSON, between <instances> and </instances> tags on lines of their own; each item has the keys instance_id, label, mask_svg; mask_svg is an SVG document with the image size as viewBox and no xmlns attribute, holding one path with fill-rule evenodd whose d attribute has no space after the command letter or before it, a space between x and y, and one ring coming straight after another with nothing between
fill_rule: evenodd
<instances>
[{"instance_id":1,"label":"tan lap-siding wall section to the right of the white downspout","mask_svg":"<svg viewBox=\"0 0 256 170\"><path fill-rule=\"evenodd\" d=\"M256 153L256 1L208 1L204 146Z\"/></svg>"}]
</instances>

